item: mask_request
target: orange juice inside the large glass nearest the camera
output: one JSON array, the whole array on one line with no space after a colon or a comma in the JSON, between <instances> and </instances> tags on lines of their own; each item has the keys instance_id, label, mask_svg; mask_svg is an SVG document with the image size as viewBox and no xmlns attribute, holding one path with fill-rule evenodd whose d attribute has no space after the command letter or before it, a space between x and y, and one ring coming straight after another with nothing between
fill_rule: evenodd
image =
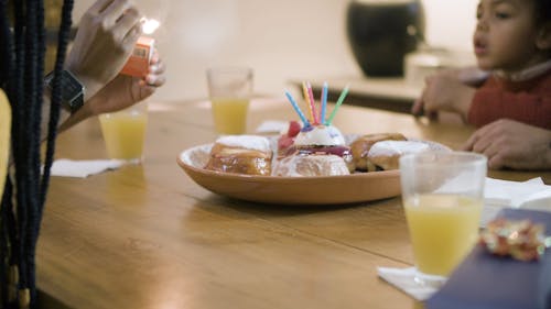
<instances>
[{"instance_id":1,"label":"orange juice inside the large glass nearest the camera","mask_svg":"<svg viewBox=\"0 0 551 309\"><path fill-rule=\"evenodd\" d=\"M447 276L478 235L482 200L457 195L421 195L404 201L415 266Z\"/></svg>"}]
</instances>

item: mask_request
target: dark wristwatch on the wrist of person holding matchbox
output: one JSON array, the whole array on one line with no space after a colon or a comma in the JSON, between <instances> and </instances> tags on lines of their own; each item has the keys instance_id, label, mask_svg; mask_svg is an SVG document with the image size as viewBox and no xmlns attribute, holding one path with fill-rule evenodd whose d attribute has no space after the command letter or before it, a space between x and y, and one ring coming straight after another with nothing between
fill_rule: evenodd
<instances>
[{"instance_id":1,"label":"dark wristwatch on the wrist of person holding matchbox","mask_svg":"<svg viewBox=\"0 0 551 309\"><path fill-rule=\"evenodd\" d=\"M54 87L54 71L44 78L44 84L52 91ZM84 104L84 85L68 70L62 70L62 107L75 112Z\"/></svg>"}]
</instances>

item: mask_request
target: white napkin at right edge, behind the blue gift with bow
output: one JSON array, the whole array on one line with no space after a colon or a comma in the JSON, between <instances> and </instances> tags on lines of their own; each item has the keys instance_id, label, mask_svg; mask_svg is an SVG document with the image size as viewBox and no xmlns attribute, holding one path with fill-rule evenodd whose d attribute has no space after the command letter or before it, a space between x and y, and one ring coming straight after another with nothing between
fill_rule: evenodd
<instances>
[{"instance_id":1,"label":"white napkin at right edge, behind the blue gift with bow","mask_svg":"<svg viewBox=\"0 0 551 309\"><path fill-rule=\"evenodd\" d=\"M480 225L486 227L507 207L551 211L551 186L543 184L540 177L527 181L486 178Z\"/></svg>"}]
</instances>

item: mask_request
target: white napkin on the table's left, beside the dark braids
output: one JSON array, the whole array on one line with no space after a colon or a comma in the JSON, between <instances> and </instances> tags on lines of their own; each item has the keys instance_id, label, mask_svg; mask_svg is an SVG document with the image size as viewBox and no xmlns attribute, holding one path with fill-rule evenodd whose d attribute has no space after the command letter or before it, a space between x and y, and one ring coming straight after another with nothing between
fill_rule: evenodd
<instances>
[{"instance_id":1,"label":"white napkin on the table's left, beside the dark braids","mask_svg":"<svg viewBox=\"0 0 551 309\"><path fill-rule=\"evenodd\" d=\"M117 169L122 164L125 164L125 162L120 159L73 161L61 158L54 162L50 173L52 176L86 178L107 169Z\"/></svg>"}]
</instances>

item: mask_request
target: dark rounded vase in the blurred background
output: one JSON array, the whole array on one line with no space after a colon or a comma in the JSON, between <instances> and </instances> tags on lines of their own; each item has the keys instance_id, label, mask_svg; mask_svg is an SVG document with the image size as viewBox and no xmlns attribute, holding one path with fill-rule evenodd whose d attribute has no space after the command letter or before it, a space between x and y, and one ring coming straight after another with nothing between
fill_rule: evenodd
<instances>
[{"instance_id":1,"label":"dark rounded vase in the blurred background","mask_svg":"<svg viewBox=\"0 0 551 309\"><path fill-rule=\"evenodd\" d=\"M406 54L424 37L424 11L420 0L352 0L346 27L366 76L403 76Z\"/></svg>"}]
</instances>

